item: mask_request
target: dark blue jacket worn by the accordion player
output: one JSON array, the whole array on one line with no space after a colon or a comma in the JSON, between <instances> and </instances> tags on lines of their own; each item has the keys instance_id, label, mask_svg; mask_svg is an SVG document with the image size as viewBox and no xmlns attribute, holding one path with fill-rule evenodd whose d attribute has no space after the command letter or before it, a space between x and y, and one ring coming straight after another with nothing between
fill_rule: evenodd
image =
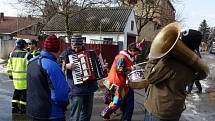
<instances>
[{"instance_id":1,"label":"dark blue jacket worn by the accordion player","mask_svg":"<svg viewBox=\"0 0 215 121\"><path fill-rule=\"evenodd\" d=\"M71 48L67 48L63 51L62 56L63 60L66 63L69 63L69 57L68 55L74 54L74 50ZM98 89L98 83L97 80L92 80L83 84L74 85L73 77L72 77L72 71L67 69L67 81L70 86L70 93L69 95L72 96L79 96L79 95L91 95Z\"/></svg>"}]
</instances>

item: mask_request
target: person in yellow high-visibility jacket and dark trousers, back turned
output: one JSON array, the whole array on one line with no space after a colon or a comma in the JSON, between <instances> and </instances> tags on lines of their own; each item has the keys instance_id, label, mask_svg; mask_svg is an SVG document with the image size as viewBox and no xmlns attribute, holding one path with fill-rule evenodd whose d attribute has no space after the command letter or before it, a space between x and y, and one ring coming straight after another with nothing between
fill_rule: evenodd
<instances>
[{"instance_id":1,"label":"person in yellow high-visibility jacket and dark trousers, back turned","mask_svg":"<svg viewBox=\"0 0 215 121\"><path fill-rule=\"evenodd\" d=\"M28 61L33 57L25 48L27 44L23 39L16 40L15 49L10 53L7 72L13 80L14 93L12 98L12 113L26 112L26 73Z\"/></svg>"}]
</instances>

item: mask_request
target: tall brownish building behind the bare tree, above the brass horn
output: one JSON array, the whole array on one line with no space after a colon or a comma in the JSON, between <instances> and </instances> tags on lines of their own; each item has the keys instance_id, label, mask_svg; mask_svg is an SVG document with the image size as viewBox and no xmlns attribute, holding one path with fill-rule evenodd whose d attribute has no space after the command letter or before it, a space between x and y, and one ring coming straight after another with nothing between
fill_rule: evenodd
<instances>
[{"instance_id":1,"label":"tall brownish building behind the bare tree, above the brass horn","mask_svg":"<svg viewBox=\"0 0 215 121\"><path fill-rule=\"evenodd\" d=\"M144 0L143 0L144 1ZM142 0L125 0L124 4L133 6L135 10L135 15L141 16L143 13L143 2ZM166 26L167 24L175 21L175 8L173 7L170 0L148 0L148 4L156 4L156 11L154 12L153 18L150 20L150 22L145 25L141 32L139 33L139 40L142 40L143 38L146 39L146 41L152 41L155 37L155 35L158 33L158 31ZM152 11L151 11L152 12ZM138 27L138 26L137 26Z\"/></svg>"}]
</instances>

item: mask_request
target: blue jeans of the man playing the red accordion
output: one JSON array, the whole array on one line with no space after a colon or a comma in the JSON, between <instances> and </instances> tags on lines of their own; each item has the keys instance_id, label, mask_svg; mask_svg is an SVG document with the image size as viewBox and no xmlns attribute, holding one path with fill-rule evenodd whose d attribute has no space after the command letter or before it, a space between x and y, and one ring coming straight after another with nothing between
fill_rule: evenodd
<instances>
[{"instance_id":1,"label":"blue jeans of the man playing the red accordion","mask_svg":"<svg viewBox=\"0 0 215 121\"><path fill-rule=\"evenodd\" d=\"M90 121L93 109L93 97L91 95L71 96L69 121Z\"/></svg>"}]
</instances>

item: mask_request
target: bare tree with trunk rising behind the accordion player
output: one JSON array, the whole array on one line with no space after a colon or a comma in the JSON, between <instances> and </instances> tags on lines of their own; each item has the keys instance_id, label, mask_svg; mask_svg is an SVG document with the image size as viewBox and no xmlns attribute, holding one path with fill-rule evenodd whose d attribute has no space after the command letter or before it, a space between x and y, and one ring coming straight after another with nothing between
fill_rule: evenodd
<instances>
[{"instance_id":1,"label":"bare tree with trunk rising behind the accordion player","mask_svg":"<svg viewBox=\"0 0 215 121\"><path fill-rule=\"evenodd\" d=\"M32 15L40 15L49 21L55 14L61 14L65 18L65 31L70 42L72 31L69 27L69 18L80 13L80 11L96 7L108 6L111 0L18 0Z\"/></svg>"}]
</instances>

